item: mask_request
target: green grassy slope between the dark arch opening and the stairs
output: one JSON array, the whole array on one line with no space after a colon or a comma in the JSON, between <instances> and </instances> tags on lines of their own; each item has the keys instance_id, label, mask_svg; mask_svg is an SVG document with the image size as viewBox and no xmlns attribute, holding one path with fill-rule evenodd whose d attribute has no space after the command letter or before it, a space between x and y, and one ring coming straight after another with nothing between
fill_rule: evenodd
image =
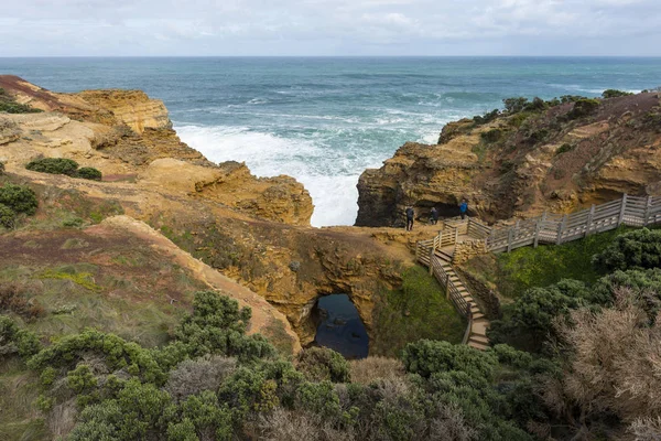
<instances>
[{"instance_id":1,"label":"green grassy slope between the dark arch opening and the stairs","mask_svg":"<svg viewBox=\"0 0 661 441\"><path fill-rule=\"evenodd\" d=\"M399 356L407 343L421 338L460 343L466 322L429 271L414 266L402 280L401 289L380 295L370 355Z\"/></svg>"}]
</instances>

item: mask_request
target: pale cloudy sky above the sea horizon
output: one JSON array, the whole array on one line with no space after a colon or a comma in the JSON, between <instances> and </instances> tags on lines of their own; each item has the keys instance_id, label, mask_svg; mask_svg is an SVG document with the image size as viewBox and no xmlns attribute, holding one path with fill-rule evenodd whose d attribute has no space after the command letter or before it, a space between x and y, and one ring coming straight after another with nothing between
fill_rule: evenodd
<instances>
[{"instance_id":1,"label":"pale cloudy sky above the sea horizon","mask_svg":"<svg viewBox=\"0 0 661 441\"><path fill-rule=\"evenodd\" d=\"M0 10L0 56L661 56L660 0L3 0Z\"/></svg>"}]
</instances>

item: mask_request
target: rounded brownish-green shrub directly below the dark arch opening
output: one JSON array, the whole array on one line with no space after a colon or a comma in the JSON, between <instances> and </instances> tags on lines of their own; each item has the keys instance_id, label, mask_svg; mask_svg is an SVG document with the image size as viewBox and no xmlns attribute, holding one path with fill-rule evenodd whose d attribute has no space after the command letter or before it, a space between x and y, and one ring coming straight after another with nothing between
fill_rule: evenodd
<instances>
[{"instance_id":1,"label":"rounded brownish-green shrub directly below the dark arch opening","mask_svg":"<svg viewBox=\"0 0 661 441\"><path fill-rule=\"evenodd\" d=\"M348 383L350 377L349 364L345 357L327 347L303 351L296 367L313 381Z\"/></svg>"}]
</instances>

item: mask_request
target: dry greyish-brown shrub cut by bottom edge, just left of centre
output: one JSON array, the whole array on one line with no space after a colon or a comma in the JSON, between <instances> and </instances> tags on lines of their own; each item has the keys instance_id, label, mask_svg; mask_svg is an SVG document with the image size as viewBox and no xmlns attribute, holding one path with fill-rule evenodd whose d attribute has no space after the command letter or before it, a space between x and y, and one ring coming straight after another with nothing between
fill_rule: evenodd
<instances>
[{"instance_id":1,"label":"dry greyish-brown shrub cut by bottom edge, just left of centre","mask_svg":"<svg viewBox=\"0 0 661 441\"><path fill-rule=\"evenodd\" d=\"M355 439L349 430L339 430L321 415L278 408L260 415L256 423L258 439L264 441L337 441Z\"/></svg>"}]
</instances>

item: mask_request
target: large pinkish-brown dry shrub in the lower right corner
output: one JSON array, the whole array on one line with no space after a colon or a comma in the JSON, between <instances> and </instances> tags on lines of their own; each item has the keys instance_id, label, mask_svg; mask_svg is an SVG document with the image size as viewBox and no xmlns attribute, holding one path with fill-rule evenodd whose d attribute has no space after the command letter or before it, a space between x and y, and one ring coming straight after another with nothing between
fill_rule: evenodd
<instances>
[{"instance_id":1,"label":"large pinkish-brown dry shrub in the lower right corner","mask_svg":"<svg viewBox=\"0 0 661 441\"><path fill-rule=\"evenodd\" d=\"M552 407L576 405L582 421L608 412L628 423L661 416L661 316L650 325L633 299L620 289L615 308L577 310L557 324L568 356L564 378L546 384Z\"/></svg>"}]
</instances>

